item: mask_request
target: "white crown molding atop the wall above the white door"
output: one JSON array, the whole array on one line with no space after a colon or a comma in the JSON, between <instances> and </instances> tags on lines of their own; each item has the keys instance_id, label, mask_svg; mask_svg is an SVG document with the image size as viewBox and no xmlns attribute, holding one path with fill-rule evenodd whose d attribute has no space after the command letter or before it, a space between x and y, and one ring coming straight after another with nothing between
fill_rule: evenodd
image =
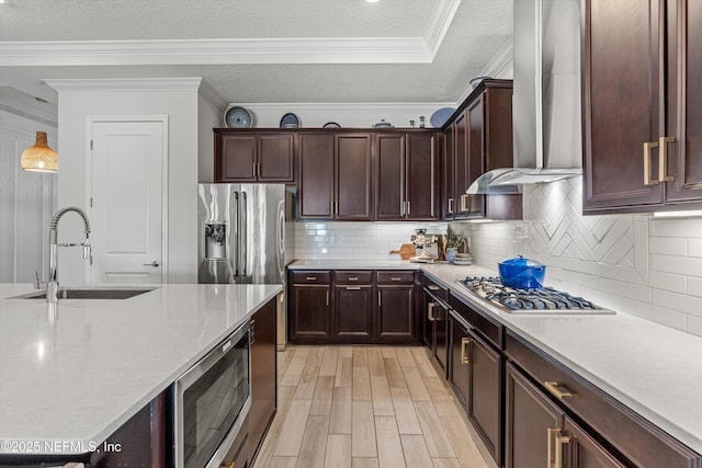
<instances>
[{"instance_id":1,"label":"white crown molding atop the wall above the white door","mask_svg":"<svg viewBox=\"0 0 702 468\"><path fill-rule=\"evenodd\" d=\"M46 79L43 83L56 91L192 91L202 78L99 78Z\"/></svg>"}]
</instances>

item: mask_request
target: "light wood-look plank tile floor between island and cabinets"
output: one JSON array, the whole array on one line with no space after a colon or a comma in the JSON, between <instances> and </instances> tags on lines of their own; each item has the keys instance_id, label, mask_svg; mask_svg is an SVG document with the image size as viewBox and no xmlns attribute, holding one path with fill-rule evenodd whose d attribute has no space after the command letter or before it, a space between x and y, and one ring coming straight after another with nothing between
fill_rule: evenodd
<instances>
[{"instance_id":1,"label":"light wood-look plank tile floor between island and cabinets","mask_svg":"<svg viewBox=\"0 0 702 468\"><path fill-rule=\"evenodd\" d=\"M487 468L423 347L288 346L254 468Z\"/></svg>"}]
</instances>

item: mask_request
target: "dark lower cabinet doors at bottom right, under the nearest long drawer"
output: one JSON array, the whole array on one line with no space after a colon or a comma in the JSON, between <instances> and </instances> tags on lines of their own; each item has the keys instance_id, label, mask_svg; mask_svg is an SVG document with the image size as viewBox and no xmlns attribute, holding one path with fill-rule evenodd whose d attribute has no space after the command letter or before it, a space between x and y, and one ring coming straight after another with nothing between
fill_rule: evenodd
<instances>
[{"instance_id":1,"label":"dark lower cabinet doors at bottom right, under the nearest long drawer","mask_svg":"<svg viewBox=\"0 0 702 468\"><path fill-rule=\"evenodd\" d=\"M567 418L510 363L507 364L506 384L507 468L627 466Z\"/></svg>"}]
</instances>

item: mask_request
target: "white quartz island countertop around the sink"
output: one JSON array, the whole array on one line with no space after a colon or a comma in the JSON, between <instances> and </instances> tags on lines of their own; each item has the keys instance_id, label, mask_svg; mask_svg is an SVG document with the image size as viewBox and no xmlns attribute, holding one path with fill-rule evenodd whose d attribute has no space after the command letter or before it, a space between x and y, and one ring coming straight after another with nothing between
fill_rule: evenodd
<instances>
[{"instance_id":1,"label":"white quartz island countertop around the sink","mask_svg":"<svg viewBox=\"0 0 702 468\"><path fill-rule=\"evenodd\" d=\"M16 453L8 441L43 454L102 444L282 286L158 285L59 299L55 316L44 299L11 298L33 290L0 284L0 454Z\"/></svg>"}]
</instances>

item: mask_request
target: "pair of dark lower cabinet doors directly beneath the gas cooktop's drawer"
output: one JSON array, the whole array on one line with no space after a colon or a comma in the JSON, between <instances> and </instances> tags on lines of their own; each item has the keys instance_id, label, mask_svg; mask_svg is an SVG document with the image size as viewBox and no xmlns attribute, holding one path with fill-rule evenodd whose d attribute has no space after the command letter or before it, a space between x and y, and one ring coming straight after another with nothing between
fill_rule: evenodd
<instances>
[{"instance_id":1,"label":"pair of dark lower cabinet doors directly beneath the gas cooktop's drawer","mask_svg":"<svg viewBox=\"0 0 702 468\"><path fill-rule=\"evenodd\" d=\"M453 312L449 327L449 380L473 427L499 465L502 356Z\"/></svg>"}]
</instances>

